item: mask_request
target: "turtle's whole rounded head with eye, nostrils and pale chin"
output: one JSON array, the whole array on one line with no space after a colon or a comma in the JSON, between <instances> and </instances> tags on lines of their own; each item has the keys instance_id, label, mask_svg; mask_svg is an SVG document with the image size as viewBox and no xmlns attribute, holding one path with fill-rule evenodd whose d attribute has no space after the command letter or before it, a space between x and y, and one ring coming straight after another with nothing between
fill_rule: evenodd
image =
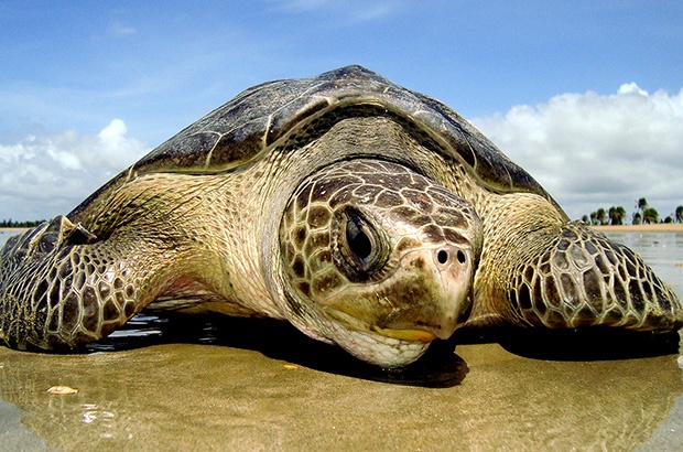
<instances>
[{"instance_id":1,"label":"turtle's whole rounded head with eye, nostrils and pale chin","mask_svg":"<svg viewBox=\"0 0 683 452\"><path fill-rule=\"evenodd\" d=\"M422 175L354 160L297 187L280 244L292 323L393 367L467 318L481 224L469 203Z\"/></svg>"}]
</instances>

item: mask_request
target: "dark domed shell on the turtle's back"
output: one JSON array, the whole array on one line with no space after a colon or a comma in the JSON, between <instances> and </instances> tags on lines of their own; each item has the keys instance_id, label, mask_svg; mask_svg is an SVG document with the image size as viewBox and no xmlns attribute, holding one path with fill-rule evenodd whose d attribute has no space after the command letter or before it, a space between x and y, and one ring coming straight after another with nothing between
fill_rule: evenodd
<instances>
[{"instance_id":1,"label":"dark domed shell on the turtle's back","mask_svg":"<svg viewBox=\"0 0 683 452\"><path fill-rule=\"evenodd\" d=\"M76 207L145 173L220 173L259 159L292 130L311 141L336 122L388 116L418 131L437 152L469 165L496 192L552 197L522 168L444 104L353 65L315 77L251 87L163 142ZM289 143L290 147L296 143Z\"/></svg>"}]
</instances>

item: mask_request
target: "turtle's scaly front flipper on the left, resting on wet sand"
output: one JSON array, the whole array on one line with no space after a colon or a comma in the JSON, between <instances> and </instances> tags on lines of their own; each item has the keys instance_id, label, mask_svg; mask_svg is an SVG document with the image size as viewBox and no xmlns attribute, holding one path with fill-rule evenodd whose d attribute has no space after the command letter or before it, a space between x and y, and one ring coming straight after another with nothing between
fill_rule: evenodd
<instances>
[{"instance_id":1,"label":"turtle's scaly front flipper on the left, resting on wet sand","mask_svg":"<svg viewBox=\"0 0 683 452\"><path fill-rule=\"evenodd\" d=\"M20 349L97 341L149 304L162 262L143 240L100 240L59 216L0 251L0 340Z\"/></svg>"}]
</instances>

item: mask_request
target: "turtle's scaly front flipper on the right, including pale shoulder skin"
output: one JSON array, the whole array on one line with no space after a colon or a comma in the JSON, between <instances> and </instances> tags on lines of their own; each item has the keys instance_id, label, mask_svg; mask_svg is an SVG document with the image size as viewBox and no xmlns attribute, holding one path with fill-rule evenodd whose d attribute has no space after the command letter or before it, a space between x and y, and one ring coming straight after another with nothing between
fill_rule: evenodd
<instances>
[{"instance_id":1,"label":"turtle's scaly front flipper on the right, including pale shoulder skin","mask_svg":"<svg viewBox=\"0 0 683 452\"><path fill-rule=\"evenodd\" d=\"M640 256L581 222L549 218L544 202L520 194L499 208L475 278L479 309L470 326L683 326L679 298Z\"/></svg>"}]
</instances>

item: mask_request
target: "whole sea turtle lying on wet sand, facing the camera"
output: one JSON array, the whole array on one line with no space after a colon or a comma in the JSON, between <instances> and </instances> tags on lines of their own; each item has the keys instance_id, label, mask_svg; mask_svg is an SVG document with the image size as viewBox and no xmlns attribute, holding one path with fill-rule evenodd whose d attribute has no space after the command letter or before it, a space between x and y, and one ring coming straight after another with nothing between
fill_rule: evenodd
<instances>
[{"instance_id":1,"label":"whole sea turtle lying on wet sand, facing the camera","mask_svg":"<svg viewBox=\"0 0 683 452\"><path fill-rule=\"evenodd\" d=\"M77 347L148 306L285 319L386 367L459 326L683 325L640 257L360 66L247 89L0 254L11 347Z\"/></svg>"}]
</instances>

